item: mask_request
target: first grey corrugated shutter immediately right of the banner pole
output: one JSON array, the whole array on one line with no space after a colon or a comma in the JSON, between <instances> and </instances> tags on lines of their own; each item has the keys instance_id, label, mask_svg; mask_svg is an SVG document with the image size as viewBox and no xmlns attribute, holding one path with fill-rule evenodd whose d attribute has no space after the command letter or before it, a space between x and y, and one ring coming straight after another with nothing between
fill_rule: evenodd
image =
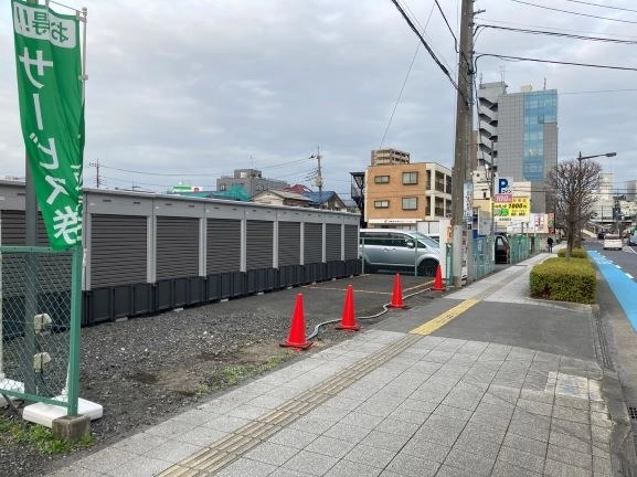
<instances>
[{"instance_id":1,"label":"first grey corrugated shutter immediately right of the banner pole","mask_svg":"<svg viewBox=\"0 0 637 477\"><path fill-rule=\"evenodd\" d=\"M92 215L91 288L146 283L146 216Z\"/></svg>"}]
</instances>

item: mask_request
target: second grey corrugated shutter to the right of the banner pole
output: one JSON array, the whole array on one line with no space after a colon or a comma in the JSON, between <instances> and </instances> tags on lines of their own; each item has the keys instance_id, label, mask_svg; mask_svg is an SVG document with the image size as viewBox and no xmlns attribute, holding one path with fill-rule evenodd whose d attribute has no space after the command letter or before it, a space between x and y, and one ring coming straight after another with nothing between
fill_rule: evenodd
<instances>
[{"instance_id":1,"label":"second grey corrugated shutter to the right of the banner pole","mask_svg":"<svg viewBox=\"0 0 637 477\"><path fill-rule=\"evenodd\" d=\"M199 219L157 218L157 279L199 275Z\"/></svg>"}]
</instances>

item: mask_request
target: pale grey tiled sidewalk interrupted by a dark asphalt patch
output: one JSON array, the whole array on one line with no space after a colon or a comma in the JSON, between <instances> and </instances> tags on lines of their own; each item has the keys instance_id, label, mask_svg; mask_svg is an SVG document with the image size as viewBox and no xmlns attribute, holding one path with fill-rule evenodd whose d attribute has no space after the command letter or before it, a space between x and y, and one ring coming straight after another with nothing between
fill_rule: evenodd
<instances>
[{"instance_id":1,"label":"pale grey tiled sidewalk interrupted by a dark asphalt patch","mask_svg":"<svg viewBox=\"0 0 637 477\"><path fill-rule=\"evenodd\" d=\"M437 301L558 317L528 298L546 256ZM612 476L618 385L594 360L369 329L52 476Z\"/></svg>"}]
</instances>

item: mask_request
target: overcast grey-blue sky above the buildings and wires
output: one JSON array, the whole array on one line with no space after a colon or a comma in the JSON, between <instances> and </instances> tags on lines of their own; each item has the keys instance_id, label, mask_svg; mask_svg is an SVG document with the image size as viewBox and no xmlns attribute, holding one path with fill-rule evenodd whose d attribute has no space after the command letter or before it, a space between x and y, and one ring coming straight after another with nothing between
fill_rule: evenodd
<instances>
[{"instance_id":1,"label":"overcast grey-blue sky above the buildings and wires","mask_svg":"<svg viewBox=\"0 0 637 477\"><path fill-rule=\"evenodd\" d=\"M438 2L458 36L460 0ZM3 3L0 178L24 176L11 8ZM107 188L214 189L220 176L251 167L314 186L310 156L320 147L325 189L347 198L349 172L364 170L379 147L453 165L456 92L391 0L62 3L88 8L88 187L97 161ZM455 78L454 36L434 0L400 3ZM486 10L478 24L637 42L634 0L478 0L475 8ZM637 43L479 29L475 50L637 68ZM478 61L478 83L502 77L509 93L527 84L559 91L560 159L616 151L601 160L616 189L637 179L636 71Z\"/></svg>"}]
</instances>

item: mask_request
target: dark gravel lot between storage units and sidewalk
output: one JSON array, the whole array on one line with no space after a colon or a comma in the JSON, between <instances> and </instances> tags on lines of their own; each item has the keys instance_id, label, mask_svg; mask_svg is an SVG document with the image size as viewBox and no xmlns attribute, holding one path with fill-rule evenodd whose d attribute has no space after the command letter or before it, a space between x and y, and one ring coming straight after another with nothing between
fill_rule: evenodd
<instances>
[{"instance_id":1,"label":"dark gravel lot between storage units and sidewalk","mask_svg":"<svg viewBox=\"0 0 637 477\"><path fill-rule=\"evenodd\" d=\"M423 283L405 277L403 287L410 286L410 280ZM81 396L104 405L104 416L92 423L96 444L72 455L49 457L28 446L9 445L0 436L0 474L45 475L208 401L245 375L302 359L302 353L278 346L287 338L299 292L309 335L317 324L340 319L347 285L354 284L360 318L376 314L391 300L392 282L392 276L361 276L84 328ZM389 293L359 293L363 287ZM315 349L347 338L347 332L336 331L333 326L322 327ZM11 415L8 410L0 412Z\"/></svg>"}]
</instances>

